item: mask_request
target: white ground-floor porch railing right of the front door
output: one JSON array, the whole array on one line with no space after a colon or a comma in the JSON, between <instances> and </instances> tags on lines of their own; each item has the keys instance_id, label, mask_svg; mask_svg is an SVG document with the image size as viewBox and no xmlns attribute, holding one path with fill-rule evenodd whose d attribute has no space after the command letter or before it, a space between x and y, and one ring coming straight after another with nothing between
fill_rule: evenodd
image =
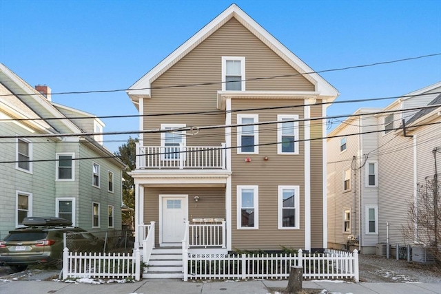
<instances>
[{"instance_id":1,"label":"white ground-floor porch railing right of the front door","mask_svg":"<svg viewBox=\"0 0 441 294\"><path fill-rule=\"evenodd\" d=\"M192 223L187 227L189 246L226 248L225 221L220 224Z\"/></svg>"}]
</instances>

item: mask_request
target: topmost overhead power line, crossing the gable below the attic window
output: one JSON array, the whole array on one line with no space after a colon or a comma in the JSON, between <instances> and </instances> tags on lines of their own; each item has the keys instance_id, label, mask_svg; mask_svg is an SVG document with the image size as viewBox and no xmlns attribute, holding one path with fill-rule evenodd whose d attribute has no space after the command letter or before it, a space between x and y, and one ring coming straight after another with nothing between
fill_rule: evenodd
<instances>
[{"instance_id":1,"label":"topmost overhead power line, crossing the gable below the attic window","mask_svg":"<svg viewBox=\"0 0 441 294\"><path fill-rule=\"evenodd\" d=\"M261 78L246 78L242 81L260 81L260 80L267 80L271 78L286 78L286 77L293 77L293 76L304 76L306 74L321 74L324 72L338 72L341 70L352 70L356 68L362 68L362 67L371 67L376 65L384 65L384 64L390 64L390 63L398 63L402 61L411 61L416 59L423 59L427 57L433 57L433 56L439 56L441 53L435 53L435 54L427 54L427 55L421 55L421 56L414 56L409 57L405 59L396 59L393 61L381 61L377 63L369 63L365 65L353 65L353 66L347 66L347 67L338 67L331 70L319 70L317 72L304 72L304 73L298 73L298 74L283 74L278 76L267 76L267 77L261 77ZM238 82L238 81L235 81ZM169 86L163 86L163 87L144 87L144 88L138 88L138 89L115 89L115 90L92 90L92 91L74 91L74 92L55 92L51 93L51 95L66 95L66 94L94 94L94 93L112 93L112 92L126 92L131 90L158 90L158 89L169 89L169 88L177 88L177 87L197 87L202 85L221 85L223 83L229 83L229 82L212 82L212 83L193 83L193 84L186 84L186 85L169 85ZM0 96L13 96L14 94L1 94ZM33 95L40 95L40 94L23 94L23 96L33 96Z\"/></svg>"}]
</instances>

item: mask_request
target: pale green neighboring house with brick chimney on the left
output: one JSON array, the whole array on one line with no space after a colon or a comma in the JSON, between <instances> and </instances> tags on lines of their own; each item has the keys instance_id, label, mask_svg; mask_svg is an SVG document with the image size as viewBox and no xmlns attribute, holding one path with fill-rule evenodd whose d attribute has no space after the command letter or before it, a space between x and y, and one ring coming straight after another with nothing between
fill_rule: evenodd
<instances>
[{"instance_id":1,"label":"pale green neighboring house with brick chimney on the left","mask_svg":"<svg viewBox=\"0 0 441 294\"><path fill-rule=\"evenodd\" d=\"M102 145L102 135L85 135L103 132L103 122L53 103L48 86L36 89L0 63L0 239L26 216L68 218L91 231L121 229L125 165Z\"/></svg>"}]
</instances>

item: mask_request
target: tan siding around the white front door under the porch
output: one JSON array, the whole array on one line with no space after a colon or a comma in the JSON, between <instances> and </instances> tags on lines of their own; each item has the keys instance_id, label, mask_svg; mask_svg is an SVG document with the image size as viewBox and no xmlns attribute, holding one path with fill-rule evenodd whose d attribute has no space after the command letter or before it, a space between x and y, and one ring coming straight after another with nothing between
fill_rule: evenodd
<instances>
[{"instance_id":1,"label":"tan siding around the white front door under the porch","mask_svg":"<svg viewBox=\"0 0 441 294\"><path fill-rule=\"evenodd\" d=\"M155 240L159 243L159 195L187 195L187 220L193 218L225 218L225 188L220 187L145 187L144 188L144 223L156 222ZM199 201L194 202L194 196Z\"/></svg>"}]
</instances>

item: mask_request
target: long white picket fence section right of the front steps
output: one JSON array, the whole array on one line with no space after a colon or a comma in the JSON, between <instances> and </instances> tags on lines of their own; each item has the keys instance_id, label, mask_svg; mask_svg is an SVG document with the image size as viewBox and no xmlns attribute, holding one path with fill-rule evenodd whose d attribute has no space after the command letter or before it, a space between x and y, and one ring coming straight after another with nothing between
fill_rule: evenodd
<instances>
[{"instance_id":1,"label":"long white picket fence section right of the front steps","mask_svg":"<svg viewBox=\"0 0 441 294\"><path fill-rule=\"evenodd\" d=\"M305 279L359 280L358 251L265 255L187 254L184 280L287 279L291 266L303 267Z\"/></svg>"}]
</instances>

